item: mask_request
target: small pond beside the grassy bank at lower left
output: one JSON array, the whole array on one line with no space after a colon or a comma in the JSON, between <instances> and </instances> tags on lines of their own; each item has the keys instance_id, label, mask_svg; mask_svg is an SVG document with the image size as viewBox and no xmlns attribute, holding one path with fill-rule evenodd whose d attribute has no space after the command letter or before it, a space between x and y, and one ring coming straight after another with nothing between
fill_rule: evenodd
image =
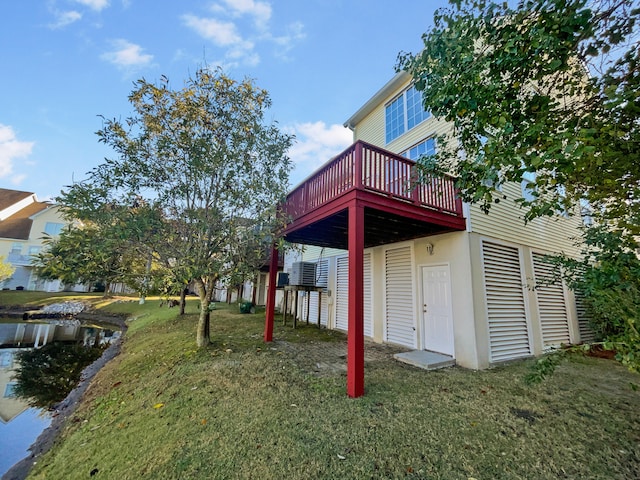
<instances>
[{"instance_id":1,"label":"small pond beside the grassy bank at lower left","mask_svg":"<svg viewBox=\"0 0 640 480\"><path fill-rule=\"evenodd\" d=\"M106 345L119 337L116 328L76 319L18 321L0 317L0 476L29 454L29 447L51 423L51 415L43 405L58 403L66 397L73 385L62 384L72 378L70 371L84 368L99 356ZM84 351L92 353L81 364L79 357L85 357ZM47 355L46 360L42 354ZM28 361L32 362L32 370L27 370L26 363L20 363L20 359L27 357L31 359ZM62 373L49 371L43 375L38 361L55 363ZM23 368L18 385L20 365ZM25 372L33 372L28 373L32 377L25 380ZM65 382L55 376L64 377ZM30 401L16 395L25 386L23 382L34 395Z\"/></svg>"}]
</instances>

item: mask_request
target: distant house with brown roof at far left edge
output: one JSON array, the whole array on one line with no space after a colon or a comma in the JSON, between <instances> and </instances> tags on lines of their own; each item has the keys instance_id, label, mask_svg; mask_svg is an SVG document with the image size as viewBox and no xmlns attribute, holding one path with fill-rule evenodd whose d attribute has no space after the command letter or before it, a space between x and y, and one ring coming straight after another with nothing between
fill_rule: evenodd
<instances>
[{"instance_id":1,"label":"distant house with brown roof at far left edge","mask_svg":"<svg viewBox=\"0 0 640 480\"><path fill-rule=\"evenodd\" d=\"M15 267L0 287L60 291L59 281L37 278L31 256L40 252L46 235L58 235L67 223L55 205L39 202L35 193L0 188L0 256Z\"/></svg>"}]
</instances>

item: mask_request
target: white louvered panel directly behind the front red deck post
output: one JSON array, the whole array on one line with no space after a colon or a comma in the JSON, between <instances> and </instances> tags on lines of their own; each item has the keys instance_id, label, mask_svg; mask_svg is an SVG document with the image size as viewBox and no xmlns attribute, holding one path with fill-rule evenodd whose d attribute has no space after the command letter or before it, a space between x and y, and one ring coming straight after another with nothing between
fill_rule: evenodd
<instances>
[{"instance_id":1,"label":"white louvered panel directly behind the front red deck post","mask_svg":"<svg viewBox=\"0 0 640 480\"><path fill-rule=\"evenodd\" d=\"M373 316L371 303L371 253L365 253L363 258L363 286L364 286L364 336L373 336ZM340 257L337 262L336 287L336 328L348 330L349 325L349 257Z\"/></svg>"}]
</instances>

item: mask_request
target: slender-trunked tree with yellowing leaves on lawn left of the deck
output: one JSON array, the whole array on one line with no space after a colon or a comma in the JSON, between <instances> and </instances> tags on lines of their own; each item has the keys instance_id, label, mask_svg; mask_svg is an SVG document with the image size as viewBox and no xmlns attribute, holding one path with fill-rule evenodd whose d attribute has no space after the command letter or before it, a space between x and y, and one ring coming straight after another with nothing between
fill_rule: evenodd
<instances>
[{"instance_id":1,"label":"slender-trunked tree with yellowing leaves on lawn left of the deck","mask_svg":"<svg viewBox=\"0 0 640 480\"><path fill-rule=\"evenodd\" d=\"M157 212L161 228L144 224L141 238L176 279L193 282L200 298L196 342L206 346L216 284L248 265L254 237L277 239L292 137L264 121L271 104L265 90L221 70L201 68L180 89L164 77L158 84L138 80L129 101L134 113L104 119L98 132L115 157L58 202L81 220L133 201Z\"/></svg>"}]
</instances>

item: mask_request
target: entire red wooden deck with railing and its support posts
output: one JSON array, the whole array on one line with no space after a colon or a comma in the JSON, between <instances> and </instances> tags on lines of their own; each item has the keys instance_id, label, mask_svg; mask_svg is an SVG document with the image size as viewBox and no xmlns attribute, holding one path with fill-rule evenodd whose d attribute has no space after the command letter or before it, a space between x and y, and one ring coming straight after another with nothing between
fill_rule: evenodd
<instances>
[{"instance_id":1,"label":"entire red wooden deck with railing and its support posts","mask_svg":"<svg viewBox=\"0 0 640 480\"><path fill-rule=\"evenodd\" d=\"M464 230L451 177L420 178L415 162L356 142L296 187L282 205L285 238L349 252L347 394L364 395L363 250ZM264 339L273 337L277 252L271 256Z\"/></svg>"}]
</instances>

